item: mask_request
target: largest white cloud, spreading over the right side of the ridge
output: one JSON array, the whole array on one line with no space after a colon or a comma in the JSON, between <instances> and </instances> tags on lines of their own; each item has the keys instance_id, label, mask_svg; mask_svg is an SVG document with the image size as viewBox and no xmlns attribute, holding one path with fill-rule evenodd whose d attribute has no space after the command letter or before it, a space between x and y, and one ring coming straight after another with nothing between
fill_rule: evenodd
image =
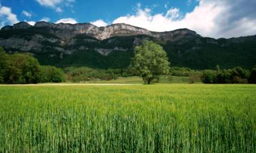
<instances>
[{"instance_id":1,"label":"largest white cloud, spreading over the right side of the ridge","mask_svg":"<svg viewBox=\"0 0 256 153\"><path fill-rule=\"evenodd\" d=\"M166 13L152 14L149 9L142 9L141 5L137 5L137 12L135 14L116 18L113 20L113 23L132 24L150 31L171 31L188 28L197 31L200 35L216 38L256 34L256 17L255 20L243 20L240 17L241 15L236 13L238 12L236 7L242 2L238 0L236 2L236 5L231 5L230 1L199 0L199 5L192 12L188 12L184 16L180 14L178 8L172 8ZM254 6L256 6L255 4ZM251 10L253 10L253 6L251 7ZM243 12L244 7L240 9L240 12ZM249 12L248 14L252 13ZM231 16L231 14L235 15ZM231 18L236 19L231 20Z\"/></svg>"}]
</instances>

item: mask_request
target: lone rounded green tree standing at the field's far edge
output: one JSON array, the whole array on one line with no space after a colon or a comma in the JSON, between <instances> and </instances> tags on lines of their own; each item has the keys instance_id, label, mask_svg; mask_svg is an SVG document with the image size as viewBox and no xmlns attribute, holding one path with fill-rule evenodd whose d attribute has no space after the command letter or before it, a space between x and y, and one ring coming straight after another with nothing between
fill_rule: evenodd
<instances>
[{"instance_id":1,"label":"lone rounded green tree standing at the field's far edge","mask_svg":"<svg viewBox=\"0 0 256 153\"><path fill-rule=\"evenodd\" d=\"M168 74L169 65L165 50L153 41L144 41L135 48L132 67L139 71L145 84L151 84L158 75Z\"/></svg>"}]
</instances>

